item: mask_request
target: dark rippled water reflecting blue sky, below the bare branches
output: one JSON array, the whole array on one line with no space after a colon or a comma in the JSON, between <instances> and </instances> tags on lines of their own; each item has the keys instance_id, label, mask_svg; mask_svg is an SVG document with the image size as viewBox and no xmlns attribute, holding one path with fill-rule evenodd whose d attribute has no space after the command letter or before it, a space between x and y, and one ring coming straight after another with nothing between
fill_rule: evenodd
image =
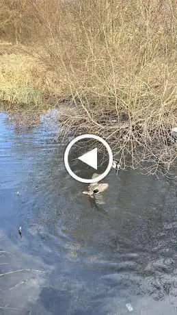
<instances>
[{"instance_id":1,"label":"dark rippled water reflecting blue sky, below the bare branches","mask_svg":"<svg viewBox=\"0 0 177 315\"><path fill-rule=\"evenodd\" d=\"M111 171L96 207L55 127L0 114L0 314L176 314L176 179Z\"/></svg>"}]
</instances>

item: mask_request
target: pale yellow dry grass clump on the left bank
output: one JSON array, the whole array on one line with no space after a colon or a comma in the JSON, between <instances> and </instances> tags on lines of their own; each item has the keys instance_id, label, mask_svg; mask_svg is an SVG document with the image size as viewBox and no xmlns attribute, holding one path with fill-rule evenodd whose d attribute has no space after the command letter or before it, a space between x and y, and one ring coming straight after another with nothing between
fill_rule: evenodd
<instances>
[{"instance_id":1,"label":"pale yellow dry grass clump on the left bank","mask_svg":"<svg viewBox=\"0 0 177 315\"><path fill-rule=\"evenodd\" d=\"M0 99L8 109L42 104L44 67L25 54L0 56ZM46 87L45 87L46 88Z\"/></svg>"}]
</instances>

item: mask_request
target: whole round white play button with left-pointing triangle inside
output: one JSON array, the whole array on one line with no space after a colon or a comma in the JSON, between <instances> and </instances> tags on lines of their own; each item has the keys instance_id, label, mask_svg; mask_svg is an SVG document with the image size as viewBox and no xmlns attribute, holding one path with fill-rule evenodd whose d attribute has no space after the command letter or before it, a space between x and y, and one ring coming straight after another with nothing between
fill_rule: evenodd
<instances>
[{"instance_id":1,"label":"whole round white play button with left-pointing triangle inside","mask_svg":"<svg viewBox=\"0 0 177 315\"><path fill-rule=\"evenodd\" d=\"M93 147L94 149L92 149ZM105 169L100 168L100 164L103 165L105 160L107 162ZM64 164L70 176L77 181L87 184L96 183L102 180L111 170L113 154L109 144L103 138L93 134L83 134L74 138L66 147ZM79 167L79 170L77 167ZM95 171L99 174L94 178L92 175L90 178L85 177L84 174L87 173L88 169L92 175ZM78 171L83 172L81 173L83 177L77 175Z\"/></svg>"}]
</instances>

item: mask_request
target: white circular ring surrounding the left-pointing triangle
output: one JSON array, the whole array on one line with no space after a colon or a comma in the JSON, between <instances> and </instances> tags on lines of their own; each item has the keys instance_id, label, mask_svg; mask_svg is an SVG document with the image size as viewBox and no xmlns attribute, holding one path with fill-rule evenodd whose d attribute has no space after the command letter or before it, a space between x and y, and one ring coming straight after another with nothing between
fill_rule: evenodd
<instances>
[{"instance_id":1,"label":"white circular ring surrounding the left-pointing triangle","mask_svg":"<svg viewBox=\"0 0 177 315\"><path fill-rule=\"evenodd\" d=\"M69 154L69 151L70 151L72 145L75 144L77 141L85 139L85 138L90 138L90 139L100 141L106 147L108 154L109 154L109 164L108 164L105 172L103 172L102 174L100 174L97 177L94 177L92 179L84 179L82 177L75 175L74 172L72 172L72 170L69 166L69 163L68 163L68 154ZM113 153L111 151L111 148L109 147L109 144L103 138L100 138L99 136L96 136L94 134L83 134L81 136L74 138L66 147L66 150L64 153L64 164L65 164L66 170L68 171L70 176L72 176L72 178L76 179L77 181L81 181L81 183L94 184L94 183L97 183L98 181L101 181L103 178L105 178L107 176L107 174L109 173L109 171L111 170L111 167L113 164Z\"/></svg>"}]
</instances>

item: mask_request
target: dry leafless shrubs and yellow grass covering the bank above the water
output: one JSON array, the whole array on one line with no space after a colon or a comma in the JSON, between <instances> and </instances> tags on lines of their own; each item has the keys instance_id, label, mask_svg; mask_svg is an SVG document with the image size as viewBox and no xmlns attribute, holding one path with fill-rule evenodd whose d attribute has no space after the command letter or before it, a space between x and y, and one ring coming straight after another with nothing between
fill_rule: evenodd
<instances>
[{"instance_id":1,"label":"dry leafless shrubs and yellow grass covering the bank above the water","mask_svg":"<svg viewBox=\"0 0 177 315\"><path fill-rule=\"evenodd\" d=\"M0 18L22 50L1 56L2 101L64 103L65 136L103 136L122 167L127 153L150 173L174 165L176 0L1 0Z\"/></svg>"}]
</instances>

